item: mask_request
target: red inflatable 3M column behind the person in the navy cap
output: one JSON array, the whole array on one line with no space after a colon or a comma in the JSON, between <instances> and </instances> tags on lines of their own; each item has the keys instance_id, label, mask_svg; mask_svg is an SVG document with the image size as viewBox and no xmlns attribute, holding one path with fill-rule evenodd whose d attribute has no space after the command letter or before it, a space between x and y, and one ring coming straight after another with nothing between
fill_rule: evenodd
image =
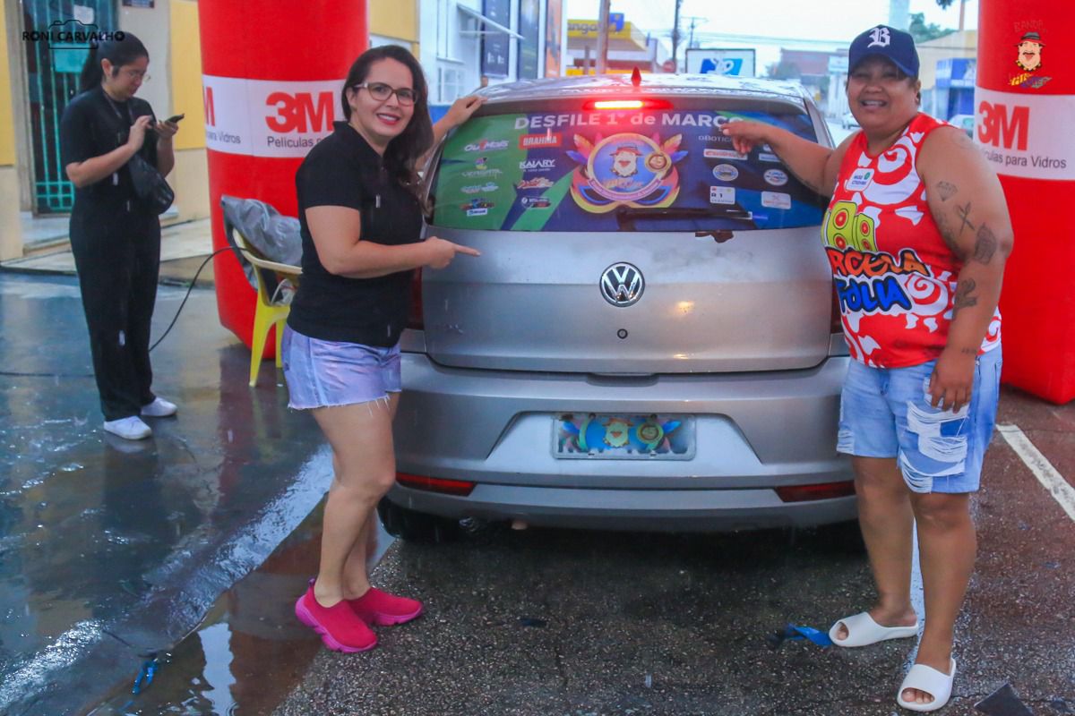
<instances>
[{"instance_id":1,"label":"red inflatable 3M column behind the person in the navy cap","mask_svg":"<svg viewBox=\"0 0 1075 716\"><path fill-rule=\"evenodd\" d=\"M976 140L1015 227L1001 296L1004 382L1075 397L1075 3L981 0Z\"/></svg>"}]
</instances>

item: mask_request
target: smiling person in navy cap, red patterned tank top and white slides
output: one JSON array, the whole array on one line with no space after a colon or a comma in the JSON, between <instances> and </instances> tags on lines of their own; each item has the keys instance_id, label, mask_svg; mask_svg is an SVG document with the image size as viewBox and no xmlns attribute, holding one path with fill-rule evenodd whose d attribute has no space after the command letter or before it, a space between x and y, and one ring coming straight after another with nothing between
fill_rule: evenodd
<instances>
[{"instance_id":1,"label":"smiling person in navy cap, red patterned tank top and white slides","mask_svg":"<svg viewBox=\"0 0 1075 716\"><path fill-rule=\"evenodd\" d=\"M1012 224L973 142L919 112L911 35L872 28L851 43L848 61L847 99L862 129L835 149L755 121L723 131L740 152L768 144L832 198L822 242L854 359L837 450L852 456L878 598L830 637L865 646L917 635L917 523L928 618L897 701L935 711L951 693L952 632L974 569L970 494L995 420L997 304Z\"/></svg>"}]
</instances>

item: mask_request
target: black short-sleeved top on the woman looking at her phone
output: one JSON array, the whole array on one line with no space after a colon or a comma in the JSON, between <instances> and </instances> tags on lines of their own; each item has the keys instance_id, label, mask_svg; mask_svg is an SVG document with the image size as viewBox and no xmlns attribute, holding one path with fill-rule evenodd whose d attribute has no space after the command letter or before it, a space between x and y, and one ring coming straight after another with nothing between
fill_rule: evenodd
<instances>
[{"instance_id":1,"label":"black short-sleeved top on the woman looking at her phone","mask_svg":"<svg viewBox=\"0 0 1075 716\"><path fill-rule=\"evenodd\" d=\"M104 93L101 86L76 94L60 118L60 161L63 166L101 157L126 144L131 125L142 115L153 117L153 107L137 97L116 102ZM150 166L157 165L157 135L154 132L145 133L145 143L139 152ZM135 199L130 170L126 164L114 175L74 190L74 211L123 211L128 201L132 211L152 213Z\"/></svg>"}]
</instances>

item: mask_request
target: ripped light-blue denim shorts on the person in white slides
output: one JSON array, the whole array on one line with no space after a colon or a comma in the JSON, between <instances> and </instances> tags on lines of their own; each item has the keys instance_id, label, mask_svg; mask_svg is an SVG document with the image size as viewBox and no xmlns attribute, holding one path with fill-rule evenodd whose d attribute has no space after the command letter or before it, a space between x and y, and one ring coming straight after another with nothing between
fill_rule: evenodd
<instances>
[{"instance_id":1,"label":"ripped light-blue denim shorts on the person in white slides","mask_svg":"<svg viewBox=\"0 0 1075 716\"><path fill-rule=\"evenodd\" d=\"M840 401L836 451L894 457L916 493L973 493L993 434L1001 349L975 361L970 404L959 412L929 403L936 361L907 368L871 368L851 361Z\"/></svg>"}]
</instances>

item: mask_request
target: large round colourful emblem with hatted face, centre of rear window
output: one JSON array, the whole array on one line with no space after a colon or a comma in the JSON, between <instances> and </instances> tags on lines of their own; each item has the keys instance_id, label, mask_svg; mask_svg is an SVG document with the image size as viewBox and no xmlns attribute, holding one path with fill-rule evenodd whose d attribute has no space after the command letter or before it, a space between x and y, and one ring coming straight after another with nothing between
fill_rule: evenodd
<instances>
[{"instance_id":1,"label":"large round colourful emblem with hatted face, centre of rear window","mask_svg":"<svg viewBox=\"0 0 1075 716\"><path fill-rule=\"evenodd\" d=\"M571 182L571 196L586 211L605 214L617 206L665 207L679 195L675 163L687 156L679 151L682 134L661 141L658 134L633 132L593 142L575 135L575 149L568 157L579 164Z\"/></svg>"}]
</instances>

